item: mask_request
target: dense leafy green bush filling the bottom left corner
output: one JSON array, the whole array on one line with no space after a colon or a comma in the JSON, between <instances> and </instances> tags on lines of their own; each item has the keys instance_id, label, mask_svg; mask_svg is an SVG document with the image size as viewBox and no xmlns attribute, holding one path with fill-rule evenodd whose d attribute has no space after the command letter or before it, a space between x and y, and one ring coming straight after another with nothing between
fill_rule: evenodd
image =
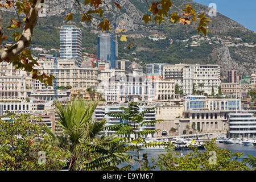
<instances>
[{"instance_id":1,"label":"dense leafy green bush filling the bottom left corner","mask_svg":"<svg viewBox=\"0 0 256 182\"><path fill-rule=\"evenodd\" d=\"M11 119L0 120L0 170L49 171L67 165L66 152L52 145L38 125L28 122L33 119L30 115L16 115Z\"/></svg>"}]
</instances>

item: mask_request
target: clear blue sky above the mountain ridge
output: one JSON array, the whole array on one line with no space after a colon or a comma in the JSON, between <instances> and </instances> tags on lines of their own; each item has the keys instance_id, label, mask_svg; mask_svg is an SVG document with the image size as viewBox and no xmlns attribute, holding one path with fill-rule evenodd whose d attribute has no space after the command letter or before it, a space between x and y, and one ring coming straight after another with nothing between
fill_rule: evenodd
<instances>
[{"instance_id":1,"label":"clear blue sky above the mountain ridge","mask_svg":"<svg viewBox=\"0 0 256 182\"><path fill-rule=\"evenodd\" d=\"M256 32L255 9L256 0L193 0L205 6L215 3L218 13L242 24Z\"/></svg>"}]
</instances>

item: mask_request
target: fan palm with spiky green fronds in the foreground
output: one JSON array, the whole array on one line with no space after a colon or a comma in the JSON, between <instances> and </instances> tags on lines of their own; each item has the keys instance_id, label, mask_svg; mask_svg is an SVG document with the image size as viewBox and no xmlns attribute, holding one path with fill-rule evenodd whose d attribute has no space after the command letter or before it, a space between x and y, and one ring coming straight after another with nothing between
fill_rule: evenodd
<instances>
[{"instance_id":1,"label":"fan palm with spiky green fronds in the foreground","mask_svg":"<svg viewBox=\"0 0 256 182\"><path fill-rule=\"evenodd\" d=\"M43 131L51 136L57 146L69 151L69 170L76 168L79 158L77 148L79 148L81 140L90 141L100 137L100 132L105 129L106 119L101 121L92 119L97 105L97 102L83 100L72 100L65 105L55 101L55 110L60 118L56 122L59 133L53 133L47 125L42 126Z\"/></svg>"}]
</instances>

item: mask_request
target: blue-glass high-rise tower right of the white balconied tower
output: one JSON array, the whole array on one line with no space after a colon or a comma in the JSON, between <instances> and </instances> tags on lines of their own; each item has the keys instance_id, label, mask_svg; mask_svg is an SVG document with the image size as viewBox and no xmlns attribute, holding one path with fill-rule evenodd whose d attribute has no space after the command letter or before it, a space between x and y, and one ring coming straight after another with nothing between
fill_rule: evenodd
<instances>
[{"instance_id":1,"label":"blue-glass high-rise tower right of the white balconied tower","mask_svg":"<svg viewBox=\"0 0 256 182\"><path fill-rule=\"evenodd\" d=\"M97 57L100 60L108 61L110 68L115 68L118 56L117 36L111 33L102 33L97 38Z\"/></svg>"}]
</instances>

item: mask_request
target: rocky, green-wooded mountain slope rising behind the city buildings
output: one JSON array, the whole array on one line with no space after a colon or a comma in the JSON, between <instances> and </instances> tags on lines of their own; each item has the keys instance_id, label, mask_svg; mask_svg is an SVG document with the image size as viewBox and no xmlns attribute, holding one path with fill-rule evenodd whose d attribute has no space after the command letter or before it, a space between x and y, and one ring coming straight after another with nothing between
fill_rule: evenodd
<instances>
[{"instance_id":1,"label":"rocky, green-wooded mountain slope rising behind the city buildings","mask_svg":"<svg viewBox=\"0 0 256 182\"><path fill-rule=\"evenodd\" d=\"M110 0L107 0L109 2ZM133 42L131 50L127 43L119 42L118 58L134 59L135 57L146 63L210 63L221 65L222 79L226 78L226 69L236 67L240 74L246 75L254 71L256 67L256 47L248 47L246 44L255 45L255 32L247 30L234 20L217 14L217 17L209 17L209 38L217 37L220 40L197 41L199 46L193 46L192 36L197 35L196 24L183 26L182 24L170 24L164 22L161 25L154 23L144 24L141 21L143 14L147 13L148 5L144 0L116 0L123 8L118 9L110 5L105 9L104 15L112 23L112 28L125 29L124 34L128 42ZM208 16L209 7L200 5L191 0L174 0L175 5L189 3L195 8L197 14L205 13ZM71 1L52 0L46 1L46 18L39 18L34 30L32 47L59 48L59 27L63 24L75 24L82 28L82 47L84 52L96 54L97 28L90 24L80 23L81 17L77 7ZM1 9L2 10L2 9ZM175 9L172 9L176 11ZM74 13L72 22L66 23L64 17L68 13ZM10 19L13 13L3 14L3 19ZM96 23L99 23L96 21ZM151 34L163 34L166 40L154 42L147 38ZM236 40L234 40L236 38ZM237 40L237 38L241 40ZM11 41L11 38L7 39ZM188 40L182 43L180 40ZM233 46L228 43L233 43ZM228 43L228 44L227 44ZM229 56L228 56L229 55Z\"/></svg>"}]
</instances>

